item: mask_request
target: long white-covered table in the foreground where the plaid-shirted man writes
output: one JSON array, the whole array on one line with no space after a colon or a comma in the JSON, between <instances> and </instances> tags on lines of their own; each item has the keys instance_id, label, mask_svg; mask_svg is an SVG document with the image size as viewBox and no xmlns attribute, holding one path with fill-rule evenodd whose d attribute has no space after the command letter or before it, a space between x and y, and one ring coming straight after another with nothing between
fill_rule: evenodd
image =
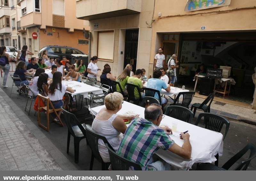
<instances>
[{"instance_id":1,"label":"long white-covered table in the foreground where the plaid-shirted man writes","mask_svg":"<svg viewBox=\"0 0 256 181\"><path fill-rule=\"evenodd\" d=\"M91 114L96 116L103 107L105 107L105 105L92 108ZM122 115L128 111L133 111L134 114L139 114L140 117L144 118L144 110L145 108L143 107L124 101L122 109L118 111L117 114ZM171 138L181 147L184 141L180 139L179 134L180 132L188 130L192 146L191 159L183 159L169 150L164 151L159 149L156 154L163 160L180 169L190 169L194 163L211 163L216 161L215 155L217 155L217 153L219 153L220 156L222 155L223 135L221 133L210 131L166 115L160 125L167 125L172 128L172 122L174 121L178 123L177 132L173 132Z\"/></svg>"}]
</instances>

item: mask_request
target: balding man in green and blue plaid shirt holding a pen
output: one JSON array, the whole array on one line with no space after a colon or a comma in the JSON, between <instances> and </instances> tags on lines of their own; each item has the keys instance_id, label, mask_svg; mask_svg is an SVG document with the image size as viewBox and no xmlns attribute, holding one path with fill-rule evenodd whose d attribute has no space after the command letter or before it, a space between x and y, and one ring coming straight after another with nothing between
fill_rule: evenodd
<instances>
[{"instance_id":1,"label":"balding man in green and blue plaid shirt holding a pen","mask_svg":"<svg viewBox=\"0 0 256 181\"><path fill-rule=\"evenodd\" d=\"M145 109L144 115L145 119L136 118L126 129L117 154L140 164L142 170L170 170L168 163L154 155L159 148L190 159L189 134L181 133L180 139L184 140L184 144L180 147L168 136L172 134L170 128L158 127L163 118L160 105L151 104Z\"/></svg>"}]
</instances>

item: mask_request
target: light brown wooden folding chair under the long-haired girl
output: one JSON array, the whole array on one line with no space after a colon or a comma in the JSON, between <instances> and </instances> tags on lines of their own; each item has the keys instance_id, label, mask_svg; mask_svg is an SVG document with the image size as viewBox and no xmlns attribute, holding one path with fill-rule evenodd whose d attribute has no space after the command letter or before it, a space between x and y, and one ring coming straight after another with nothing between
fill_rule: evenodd
<instances>
[{"instance_id":1,"label":"light brown wooden folding chair under the long-haired girl","mask_svg":"<svg viewBox=\"0 0 256 181\"><path fill-rule=\"evenodd\" d=\"M54 121L54 118L52 117L53 121L57 124L59 124L60 126L64 127L60 117L58 116L58 113L57 111L60 111L61 108L59 109L54 109L53 105L52 105L52 102L50 100L50 98L48 97L44 97L42 96L41 94L37 94L38 96L38 126L40 126L41 128L43 128L44 130L48 131L49 132L49 128L50 128L50 125L49 125L49 115L50 113L55 113L55 115L58 117L59 121L60 122L57 122L57 121ZM43 102L45 102L45 106L44 107L40 107L40 100L42 100ZM50 106L52 109L50 109ZM41 124L41 120L40 120L40 110L43 109L44 111L46 111L46 126Z\"/></svg>"}]
</instances>

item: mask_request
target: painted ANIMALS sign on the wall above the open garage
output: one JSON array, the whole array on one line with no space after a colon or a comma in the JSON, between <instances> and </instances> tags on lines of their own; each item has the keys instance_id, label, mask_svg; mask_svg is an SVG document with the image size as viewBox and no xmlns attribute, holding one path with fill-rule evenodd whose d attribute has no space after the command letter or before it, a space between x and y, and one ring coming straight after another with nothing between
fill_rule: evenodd
<instances>
[{"instance_id":1,"label":"painted ANIMALS sign on the wall above the open garage","mask_svg":"<svg viewBox=\"0 0 256 181\"><path fill-rule=\"evenodd\" d=\"M231 0L188 0L184 11L198 11L221 6L228 6Z\"/></svg>"}]
</instances>

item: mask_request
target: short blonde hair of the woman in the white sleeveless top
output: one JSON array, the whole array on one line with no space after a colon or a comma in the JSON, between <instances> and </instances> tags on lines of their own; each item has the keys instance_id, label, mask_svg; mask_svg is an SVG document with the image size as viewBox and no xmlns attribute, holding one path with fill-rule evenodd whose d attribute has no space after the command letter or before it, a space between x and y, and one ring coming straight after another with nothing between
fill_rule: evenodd
<instances>
[{"instance_id":1,"label":"short blonde hair of the woman in the white sleeveless top","mask_svg":"<svg viewBox=\"0 0 256 181\"><path fill-rule=\"evenodd\" d=\"M123 102L123 95L119 92L114 92L106 95L104 104L109 110L116 110Z\"/></svg>"}]
</instances>

